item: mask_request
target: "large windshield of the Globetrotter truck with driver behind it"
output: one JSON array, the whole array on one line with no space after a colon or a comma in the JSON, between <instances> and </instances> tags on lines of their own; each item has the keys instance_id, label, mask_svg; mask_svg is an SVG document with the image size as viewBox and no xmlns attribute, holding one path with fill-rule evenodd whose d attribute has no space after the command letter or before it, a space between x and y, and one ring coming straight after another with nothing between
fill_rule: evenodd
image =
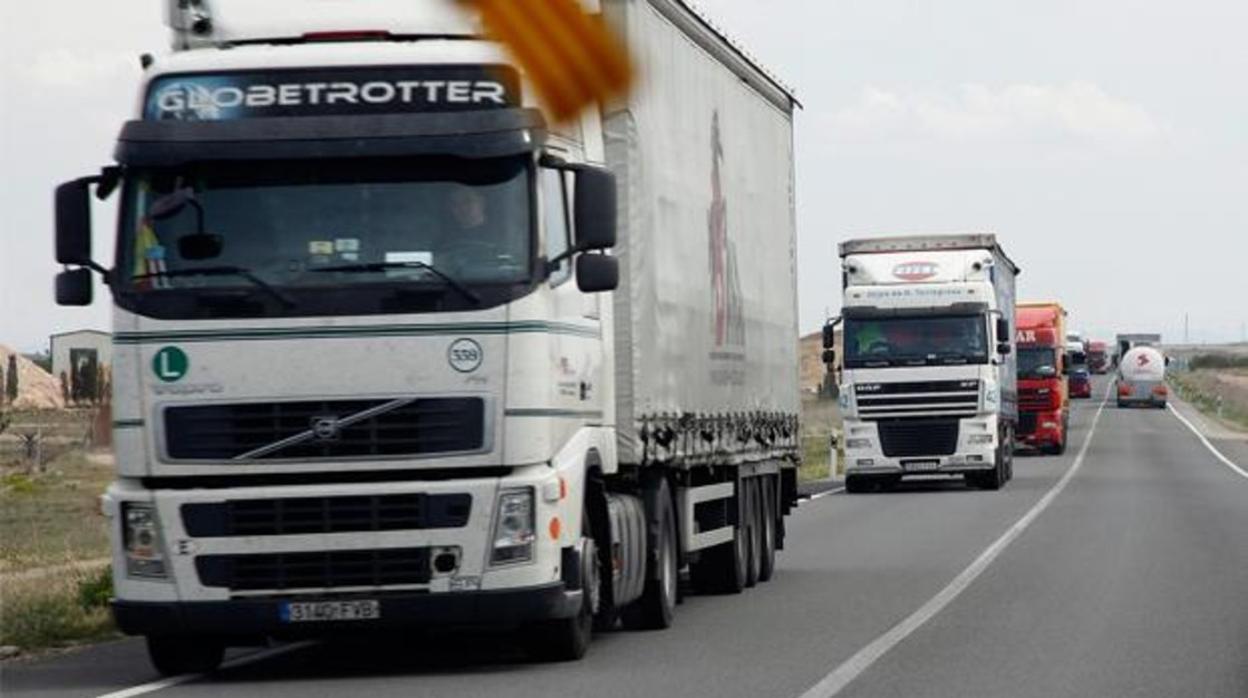
<instances>
[{"instance_id":1,"label":"large windshield of the Globetrotter truck with driver behind it","mask_svg":"<svg viewBox=\"0 0 1248 698\"><path fill-rule=\"evenodd\" d=\"M443 295L524 283L529 170L525 157L421 157L141 171L127 182L119 271L132 293L261 296L241 273L196 271L242 270L296 302L343 287ZM175 192L188 201L170 214Z\"/></svg>"}]
</instances>

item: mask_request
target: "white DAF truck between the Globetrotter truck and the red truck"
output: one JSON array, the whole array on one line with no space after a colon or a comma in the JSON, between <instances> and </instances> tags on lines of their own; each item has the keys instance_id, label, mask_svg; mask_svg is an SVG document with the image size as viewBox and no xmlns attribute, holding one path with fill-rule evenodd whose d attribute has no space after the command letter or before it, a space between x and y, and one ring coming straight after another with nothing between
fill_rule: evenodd
<instances>
[{"instance_id":1,"label":"white DAF truck between the Globetrotter truck and the red truck","mask_svg":"<svg viewBox=\"0 0 1248 698\"><path fill-rule=\"evenodd\" d=\"M846 491L938 473L1001 488L1018 421L1018 267L993 235L851 240L840 256Z\"/></svg>"}]
</instances>

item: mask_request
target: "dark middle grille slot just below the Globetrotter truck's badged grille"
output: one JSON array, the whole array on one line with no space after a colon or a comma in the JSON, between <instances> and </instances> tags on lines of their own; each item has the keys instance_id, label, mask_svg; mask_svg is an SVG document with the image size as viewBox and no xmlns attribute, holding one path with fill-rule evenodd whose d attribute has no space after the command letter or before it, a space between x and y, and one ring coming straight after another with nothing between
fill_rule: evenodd
<instances>
[{"instance_id":1,"label":"dark middle grille slot just below the Globetrotter truck's badged grille","mask_svg":"<svg viewBox=\"0 0 1248 698\"><path fill-rule=\"evenodd\" d=\"M470 494L237 499L182 504L182 524L196 538L416 531L462 528L470 511Z\"/></svg>"}]
</instances>

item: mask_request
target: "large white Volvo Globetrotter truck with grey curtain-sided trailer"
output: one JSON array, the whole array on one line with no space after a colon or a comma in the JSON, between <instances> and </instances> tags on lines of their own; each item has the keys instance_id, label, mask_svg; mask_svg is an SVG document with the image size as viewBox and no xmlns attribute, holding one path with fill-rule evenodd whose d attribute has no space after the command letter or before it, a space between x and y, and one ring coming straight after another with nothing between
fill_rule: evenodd
<instances>
[{"instance_id":1,"label":"large white Volvo Globetrotter truck with grey curtain-sided trailer","mask_svg":"<svg viewBox=\"0 0 1248 698\"><path fill-rule=\"evenodd\" d=\"M771 576L796 102L680 0L598 11L640 82L552 125L453 0L168 0L116 164L56 192L59 301L115 306L115 616L161 672L413 624L578 658L685 571Z\"/></svg>"}]
</instances>

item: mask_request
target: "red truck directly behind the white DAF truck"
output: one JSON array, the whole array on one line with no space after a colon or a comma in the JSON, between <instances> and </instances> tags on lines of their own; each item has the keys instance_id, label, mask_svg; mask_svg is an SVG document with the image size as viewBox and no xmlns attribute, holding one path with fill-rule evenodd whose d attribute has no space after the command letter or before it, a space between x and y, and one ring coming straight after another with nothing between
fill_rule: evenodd
<instances>
[{"instance_id":1,"label":"red truck directly behind the white DAF truck","mask_svg":"<svg viewBox=\"0 0 1248 698\"><path fill-rule=\"evenodd\" d=\"M1020 446L1063 453L1070 426L1066 382L1066 310L1061 303L1018 303Z\"/></svg>"}]
</instances>

